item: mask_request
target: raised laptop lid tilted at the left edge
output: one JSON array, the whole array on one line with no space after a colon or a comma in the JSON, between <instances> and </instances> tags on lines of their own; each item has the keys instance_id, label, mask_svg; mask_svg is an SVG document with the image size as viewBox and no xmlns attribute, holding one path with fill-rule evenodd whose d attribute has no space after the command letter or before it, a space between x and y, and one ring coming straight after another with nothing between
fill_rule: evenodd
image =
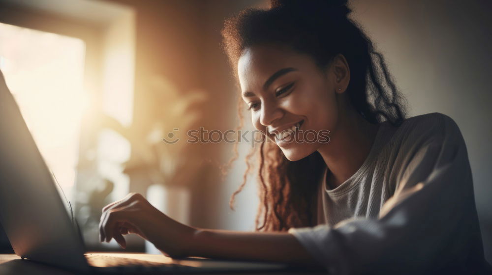
<instances>
[{"instance_id":1,"label":"raised laptop lid tilted at the left edge","mask_svg":"<svg viewBox=\"0 0 492 275\"><path fill-rule=\"evenodd\" d=\"M0 222L17 255L89 269L84 246L1 71Z\"/></svg>"}]
</instances>

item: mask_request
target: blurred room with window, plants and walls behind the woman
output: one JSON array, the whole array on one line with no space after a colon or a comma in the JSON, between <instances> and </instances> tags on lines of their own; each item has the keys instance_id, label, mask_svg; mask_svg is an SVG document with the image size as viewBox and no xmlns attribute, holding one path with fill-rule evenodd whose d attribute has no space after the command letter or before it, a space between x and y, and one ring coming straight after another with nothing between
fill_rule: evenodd
<instances>
[{"instance_id":1,"label":"blurred room with window, plants and walls behind the woman","mask_svg":"<svg viewBox=\"0 0 492 275\"><path fill-rule=\"evenodd\" d=\"M437 111L458 123L491 262L491 2L349 3L408 99L409 116ZM229 209L250 144L239 144L222 177L233 144L183 142L188 129L238 125L239 89L219 43L223 20L246 7L268 2L0 0L0 70L89 249L119 249L98 243L97 224L101 208L128 192L192 226L254 228L254 177ZM127 243L158 253L138 238ZM9 249L0 228L0 251Z\"/></svg>"}]
</instances>

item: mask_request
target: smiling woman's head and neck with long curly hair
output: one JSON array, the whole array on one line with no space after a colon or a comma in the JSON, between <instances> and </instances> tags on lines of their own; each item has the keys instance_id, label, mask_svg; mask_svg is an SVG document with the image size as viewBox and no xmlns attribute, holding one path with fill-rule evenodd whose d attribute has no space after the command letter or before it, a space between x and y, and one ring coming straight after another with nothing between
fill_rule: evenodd
<instances>
[{"instance_id":1,"label":"smiling woman's head and neck with long curly hair","mask_svg":"<svg viewBox=\"0 0 492 275\"><path fill-rule=\"evenodd\" d=\"M322 167L330 167L328 177L336 180L331 186L343 182L367 157L378 121L386 118L399 126L405 116L404 99L382 55L346 18L343 1L287 3L274 1L276 8L266 11L247 9L226 21L222 31L252 122L265 133L268 128L276 141L261 146L262 154L276 157L261 159L268 184L260 178L258 230L314 225ZM271 133L301 121L301 130L316 134L310 140L319 141L320 131L330 131L331 144L282 142ZM294 134L291 139L308 138L307 132Z\"/></svg>"}]
</instances>

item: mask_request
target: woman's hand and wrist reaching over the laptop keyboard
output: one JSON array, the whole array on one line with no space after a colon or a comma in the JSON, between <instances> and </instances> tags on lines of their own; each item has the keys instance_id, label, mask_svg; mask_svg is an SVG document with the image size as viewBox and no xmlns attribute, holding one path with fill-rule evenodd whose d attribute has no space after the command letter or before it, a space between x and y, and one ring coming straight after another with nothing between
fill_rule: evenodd
<instances>
[{"instance_id":1,"label":"woman's hand and wrist reaching over the laptop keyboard","mask_svg":"<svg viewBox=\"0 0 492 275\"><path fill-rule=\"evenodd\" d=\"M101 242L114 238L125 248L123 235L134 233L171 257L186 254L195 231L195 228L164 215L139 193L129 193L123 199L108 204L102 209L99 222Z\"/></svg>"}]
</instances>

